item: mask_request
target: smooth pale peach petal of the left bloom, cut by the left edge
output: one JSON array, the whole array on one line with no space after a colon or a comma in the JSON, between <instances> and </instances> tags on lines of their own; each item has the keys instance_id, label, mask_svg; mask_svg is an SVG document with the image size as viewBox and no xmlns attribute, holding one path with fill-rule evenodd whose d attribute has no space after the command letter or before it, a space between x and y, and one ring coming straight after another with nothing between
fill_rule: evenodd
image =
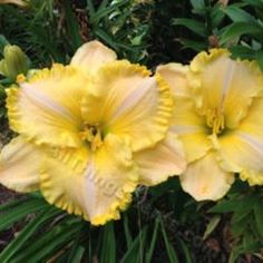
<instances>
[{"instance_id":1,"label":"smooth pale peach petal of the left bloom, cut by the left edge","mask_svg":"<svg viewBox=\"0 0 263 263\"><path fill-rule=\"evenodd\" d=\"M46 153L21 136L12 139L0 154L0 184L17 192L39 187L39 173Z\"/></svg>"}]
</instances>

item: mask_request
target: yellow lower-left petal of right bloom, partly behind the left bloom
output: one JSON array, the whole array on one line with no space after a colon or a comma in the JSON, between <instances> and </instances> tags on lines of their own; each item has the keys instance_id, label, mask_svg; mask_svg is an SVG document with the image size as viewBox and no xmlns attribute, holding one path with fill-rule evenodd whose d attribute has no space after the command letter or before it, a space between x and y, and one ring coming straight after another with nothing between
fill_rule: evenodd
<instances>
[{"instance_id":1,"label":"yellow lower-left petal of right bloom, partly behind the left bloom","mask_svg":"<svg viewBox=\"0 0 263 263\"><path fill-rule=\"evenodd\" d=\"M183 142L187 163L203 157L212 148L205 119L196 113L193 101L188 98L175 98L171 130Z\"/></svg>"}]
</instances>

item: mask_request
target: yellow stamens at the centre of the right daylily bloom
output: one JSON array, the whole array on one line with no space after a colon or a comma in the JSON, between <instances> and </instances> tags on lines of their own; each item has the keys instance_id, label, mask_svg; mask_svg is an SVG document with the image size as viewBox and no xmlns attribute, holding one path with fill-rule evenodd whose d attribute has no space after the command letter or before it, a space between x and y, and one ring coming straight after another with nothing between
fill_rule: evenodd
<instances>
[{"instance_id":1,"label":"yellow stamens at the centre of the right daylily bloom","mask_svg":"<svg viewBox=\"0 0 263 263\"><path fill-rule=\"evenodd\" d=\"M223 113L217 108L208 109L206 111L206 124L212 128L213 134L221 134L225 128L225 118Z\"/></svg>"}]
</instances>

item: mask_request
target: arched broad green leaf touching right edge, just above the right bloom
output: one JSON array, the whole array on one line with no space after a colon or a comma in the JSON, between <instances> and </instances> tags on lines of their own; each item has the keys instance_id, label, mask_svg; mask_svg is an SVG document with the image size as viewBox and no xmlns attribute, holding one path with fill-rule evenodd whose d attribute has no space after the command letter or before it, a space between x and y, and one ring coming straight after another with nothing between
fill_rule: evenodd
<instances>
[{"instance_id":1,"label":"arched broad green leaf touching right edge, just above the right bloom","mask_svg":"<svg viewBox=\"0 0 263 263\"><path fill-rule=\"evenodd\" d=\"M228 26L221 36L221 45L233 41L243 35L253 36L255 38L261 38L263 33L263 28L255 23L249 22L234 22Z\"/></svg>"}]
</instances>

